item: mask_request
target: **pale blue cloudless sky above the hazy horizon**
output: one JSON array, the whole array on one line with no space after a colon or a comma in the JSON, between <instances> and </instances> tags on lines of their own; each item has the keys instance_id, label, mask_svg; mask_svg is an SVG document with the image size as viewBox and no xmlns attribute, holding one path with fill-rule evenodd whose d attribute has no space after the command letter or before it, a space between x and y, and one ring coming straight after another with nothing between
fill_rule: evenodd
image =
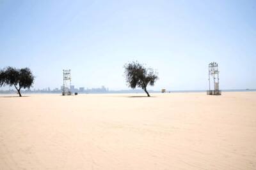
<instances>
[{"instance_id":1,"label":"pale blue cloudless sky above the hazy horizon","mask_svg":"<svg viewBox=\"0 0 256 170\"><path fill-rule=\"evenodd\" d=\"M220 89L256 89L255 18L248 0L0 0L0 68L29 67L32 89L60 89L71 69L75 87L125 90L138 60L158 72L150 90L205 90L214 61Z\"/></svg>"}]
</instances>

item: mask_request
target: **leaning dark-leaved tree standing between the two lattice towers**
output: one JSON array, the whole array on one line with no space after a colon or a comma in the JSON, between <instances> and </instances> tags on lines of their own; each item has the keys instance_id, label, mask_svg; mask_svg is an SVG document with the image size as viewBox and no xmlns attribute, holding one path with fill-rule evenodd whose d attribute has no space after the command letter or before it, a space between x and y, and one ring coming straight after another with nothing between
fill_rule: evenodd
<instances>
[{"instance_id":1,"label":"leaning dark-leaved tree standing between the two lattice towers","mask_svg":"<svg viewBox=\"0 0 256 170\"><path fill-rule=\"evenodd\" d=\"M150 67L146 68L139 62L130 62L124 65L126 82L129 87L135 89L141 87L150 97L147 85L153 86L158 79L157 73Z\"/></svg>"}]
</instances>

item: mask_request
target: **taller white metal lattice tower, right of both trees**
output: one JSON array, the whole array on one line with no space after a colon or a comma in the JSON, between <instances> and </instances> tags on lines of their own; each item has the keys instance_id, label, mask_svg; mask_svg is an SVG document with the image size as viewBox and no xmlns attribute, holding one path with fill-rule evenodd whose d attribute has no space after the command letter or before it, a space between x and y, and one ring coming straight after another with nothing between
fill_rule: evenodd
<instances>
[{"instance_id":1,"label":"taller white metal lattice tower, right of both trees","mask_svg":"<svg viewBox=\"0 0 256 170\"><path fill-rule=\"evenodd\" d=\"M221 95L221 91L219 89L219 73L218 63L211 62L209 64L209 90L207 90L207 94ZM211 80L213 81L214 90L211 90Z\"/></svg>"}]
</instances>

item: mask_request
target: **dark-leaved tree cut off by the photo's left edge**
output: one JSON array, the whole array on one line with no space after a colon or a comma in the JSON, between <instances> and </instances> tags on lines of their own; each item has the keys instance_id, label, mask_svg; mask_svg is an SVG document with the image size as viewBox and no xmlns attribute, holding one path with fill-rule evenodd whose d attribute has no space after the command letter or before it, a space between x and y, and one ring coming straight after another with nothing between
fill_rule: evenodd
<instances>
[{"instance_id":1,"label":"dark-leaved tree cut off by the photo's left edge","mask_svg":"<svg viewBox=\"0 0 256 170\"><path fill-rule=\"evenodd\" d=\"M31 70L26 67L22 69L16 69L15 67L6 67L0 70L0 87L5 85L13 85L18 91L19 96L21 88L30 88L33 85L35 76L33 76Z\"/></svg>"}]
</instances>

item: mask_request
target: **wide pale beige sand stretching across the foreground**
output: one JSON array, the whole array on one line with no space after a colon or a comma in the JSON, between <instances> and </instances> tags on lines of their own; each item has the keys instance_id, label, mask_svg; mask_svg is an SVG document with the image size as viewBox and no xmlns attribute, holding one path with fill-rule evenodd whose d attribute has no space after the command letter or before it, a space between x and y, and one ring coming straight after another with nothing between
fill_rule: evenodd
<instances>
[{"instance_id":1,"label":"wide pale beige sand stretching across the foreground","mask_svg":"<svg viewBox=\"0 0 256 170\"><path fill-rule=\"evenodd\" d=\"M0 96L0 169L256 169L256 92Z\"/></svg>"}]
</instances>

